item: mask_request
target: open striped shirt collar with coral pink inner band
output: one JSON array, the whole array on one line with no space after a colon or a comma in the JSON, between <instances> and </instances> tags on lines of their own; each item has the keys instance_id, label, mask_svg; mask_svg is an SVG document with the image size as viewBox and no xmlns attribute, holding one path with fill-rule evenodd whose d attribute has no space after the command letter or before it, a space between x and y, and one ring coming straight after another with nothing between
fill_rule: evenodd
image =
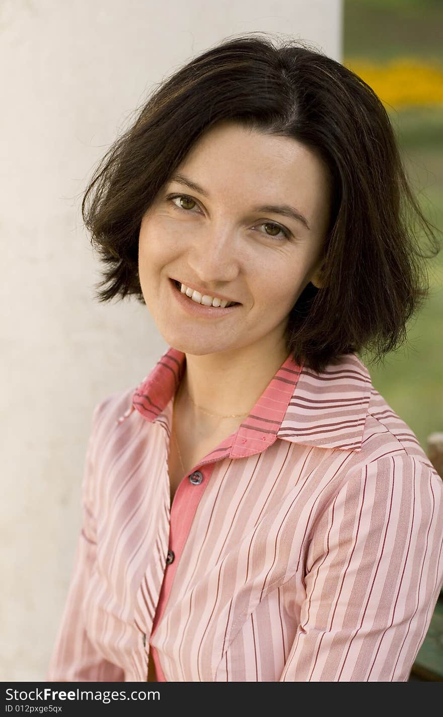
<instances>
[{"instance_id":1,"label":"open striped shirt collar with coral pink inner band","mask_svg":"<svg viewBox=\"0 0 443 717\"><path fill-rule=\"evenodd\" d=\"M135 389L133 403L119 422L135 409L153 422L173 398L186 366L186 354L168 348ZM277 438L292 443L361 450L371 398L371 377L355 353L316 374L297 366L289 355L259 397L237 432L205 457L246 457L265 450Z\"/></svg>"}]
</instances>

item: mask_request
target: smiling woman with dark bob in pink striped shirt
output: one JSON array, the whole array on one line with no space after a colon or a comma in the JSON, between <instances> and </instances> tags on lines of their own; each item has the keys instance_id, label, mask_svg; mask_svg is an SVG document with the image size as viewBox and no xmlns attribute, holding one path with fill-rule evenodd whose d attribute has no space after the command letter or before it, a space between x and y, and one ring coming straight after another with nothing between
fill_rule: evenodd
<instances>
[{"instance_id":1,"label":"smiling woman with dark bob in pink striped shirt","mask_svg":"<svg viewBox=\"0 0 443 717\"><path fill-rule=\"evenodd\" d=\"M357 356L427 293L404 201L437 247L371 88L254 33L110 149L82 204L98 297L169 348L95 407L47 680L408 680L443 483Z\"/></svg>"}]
</instances>

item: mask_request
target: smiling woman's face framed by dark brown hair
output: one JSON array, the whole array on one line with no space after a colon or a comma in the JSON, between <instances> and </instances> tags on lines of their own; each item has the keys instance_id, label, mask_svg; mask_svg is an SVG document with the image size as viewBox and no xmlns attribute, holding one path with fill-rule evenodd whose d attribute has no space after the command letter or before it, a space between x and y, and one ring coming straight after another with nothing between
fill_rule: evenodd
<instances>
[{"instance_id":1,"label":"smiling woman's face framed by dark brown hair","mask_svg":"<svg viewBox=\"0 0 443 717\"><path fill-rule=\"evenodd\" d=\"M194 355L252 344L281 352L292 306L308 282L321 286L327 168L292 138L224 121L201 136L177 174L140 226L140 285L158 330ZM201 307L172 280L238 305Z\"/></svg>"}]
</instances>

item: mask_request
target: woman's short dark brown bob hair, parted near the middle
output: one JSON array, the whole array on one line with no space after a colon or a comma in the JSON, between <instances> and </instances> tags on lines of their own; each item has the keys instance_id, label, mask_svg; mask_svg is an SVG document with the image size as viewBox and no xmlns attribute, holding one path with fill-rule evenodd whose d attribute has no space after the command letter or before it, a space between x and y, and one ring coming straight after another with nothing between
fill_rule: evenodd
<instances>
[{"instance_id":1,"label":"woman's short dark brown bob hair, parted near the middle","mask_svg":"<svg viewBox=\"0 0 443 717\"><path fill-rule=\"evenodd\" d=\"M265 36L267 33L265 33ZM340 62L306 43L263 33L224 39L160 83L95 169L82 217L105 265L101 302L135 295L143 214L202 133L219 120L292 137L318 153L332 181L322 288L292 307L287 350L315 372L363 349L382 360L406 339L429 293L419 220L439 242L409 186L381 100ZM107 288L106 285L108 285Z\"/></svg>"}]
</instances>

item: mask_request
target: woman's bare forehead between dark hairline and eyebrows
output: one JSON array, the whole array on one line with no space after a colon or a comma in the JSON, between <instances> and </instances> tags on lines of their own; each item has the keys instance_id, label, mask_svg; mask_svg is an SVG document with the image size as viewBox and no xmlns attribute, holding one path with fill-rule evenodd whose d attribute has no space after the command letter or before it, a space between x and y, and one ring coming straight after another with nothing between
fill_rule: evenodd
<instances>
[{"instance_id":1,"label":"woman's bare forehead between dark hairline and eyebrows","mask_svg":"<svg viewBox=\"0 0 443 717\"><path fill-rule=\"evenodd\" d=\"M292 207L307 226L314 215L328 212L330 200L328 168L310 148L238 123L207 130L171 173L167 184L172 182L209 201L251 211Z\"/></svg>"}]
</instances>

